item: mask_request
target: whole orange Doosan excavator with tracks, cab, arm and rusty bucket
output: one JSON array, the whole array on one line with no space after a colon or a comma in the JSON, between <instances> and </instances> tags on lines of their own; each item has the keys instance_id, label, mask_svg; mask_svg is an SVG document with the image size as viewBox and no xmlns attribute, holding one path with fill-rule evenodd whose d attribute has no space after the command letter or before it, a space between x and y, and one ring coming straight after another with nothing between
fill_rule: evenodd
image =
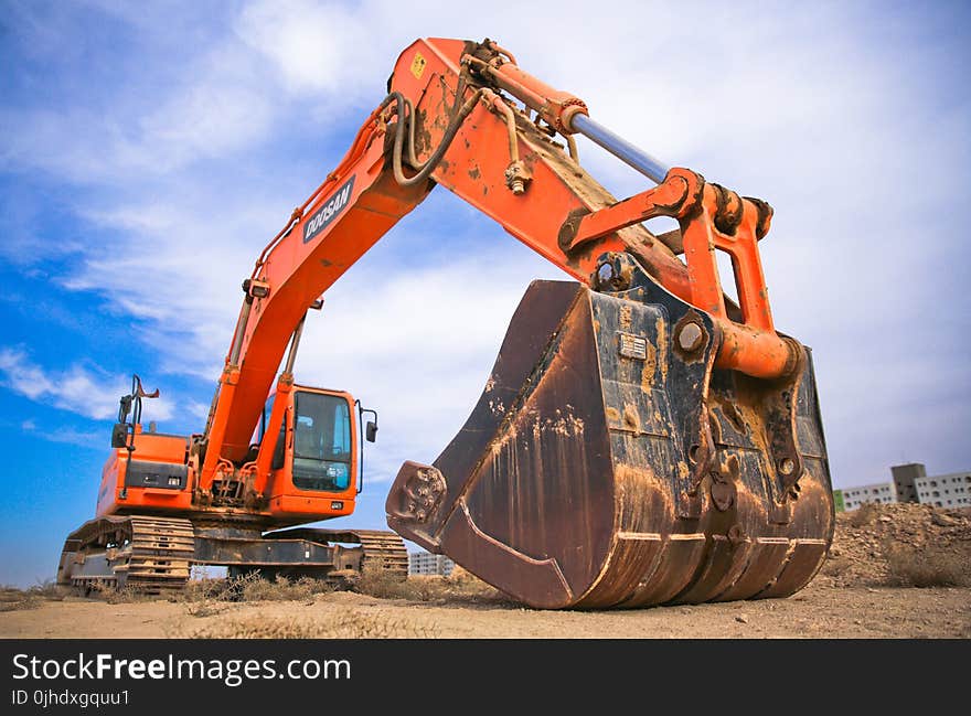
<instances>
[{"instance_id":1,"label":"whole orange Doosan excavator with tracks, cab, arm and rusty bucket","mask_svg":"<svg viewBox=\"0 0 971 716\"><path fill-rule=\"evenodd\" d=\"M648 188L615 199L576 135ZM531 284L465 426L433 464L397 473L393 532L298 526L353 512L377 431L350 394L294 382L308 311L436 185L573 280ZM652 233L658 217L677 228ZM204 430L143 430L156 393L132 382L96 516L67 537L58 581L162 594L193 565L403 577L405 537L534 608L796 592L826 557L834 512L812 354L769 306L758 243L771 217L662 164L491 40L416 41L243 282Z\"/></svg>"}]
</instances>

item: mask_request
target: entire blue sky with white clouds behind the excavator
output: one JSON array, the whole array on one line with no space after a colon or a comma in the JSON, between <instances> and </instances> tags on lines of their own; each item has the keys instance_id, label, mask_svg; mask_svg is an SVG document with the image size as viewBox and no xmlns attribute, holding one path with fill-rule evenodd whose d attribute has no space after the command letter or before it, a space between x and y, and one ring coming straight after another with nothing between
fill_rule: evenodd
<instances>
[{"instance_id":1,"label":"entire blue sky with white clouds behind the excavator","mask_svg":"<svg viewBox=\"0 0 971 716\"><path fill-rule=\"evenodd\" d=\"M132 372L162 392L146 419L202 428L239 281L419 36L497 39L775 206L776 322L814 349L836 487L971 468L967 3L677 4L0 0L0 583L53 576L93 515ZM381 412L345 524L384 526L397 467L461 426L537 277L563 275L439 189L328 293L298 381Z\"/></svg>"}]
</instances>

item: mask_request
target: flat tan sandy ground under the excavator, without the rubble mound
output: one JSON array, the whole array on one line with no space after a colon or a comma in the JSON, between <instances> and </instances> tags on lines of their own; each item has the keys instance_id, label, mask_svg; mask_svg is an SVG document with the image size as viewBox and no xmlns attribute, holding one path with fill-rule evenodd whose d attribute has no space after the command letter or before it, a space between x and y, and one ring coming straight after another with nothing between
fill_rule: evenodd
<instances>
[{"instance_id":1,"label":"flat tan sandy ground under the excavator, without the rubble mound","mask_svg":"<svg viewBox=\"0 0 971 716\"><path fill-rule=\"evenodd\" d=\"M312 624L355 619L387 624L388 637L437 638L971 638L971 589L835 587L820 577L788 599L737 601L637 611L551 612L508 603L426 603L352 592L312 602L231 605L193 617L168 601L109 605L46 602L0 613L7 638L167 638L246 635L253 622ZM242 630L241 630L241 626ZM335 634L340 635L340 634Z\"/></svg>"}]
</instances>

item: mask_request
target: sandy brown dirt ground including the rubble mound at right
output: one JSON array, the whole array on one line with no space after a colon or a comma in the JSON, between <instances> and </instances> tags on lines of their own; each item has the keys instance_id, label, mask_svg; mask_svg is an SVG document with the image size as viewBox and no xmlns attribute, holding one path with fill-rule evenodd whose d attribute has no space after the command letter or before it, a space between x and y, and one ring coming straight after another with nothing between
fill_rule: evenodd
<instances>
[{"instance_id":1,"label":"sandy brown dirt ground including the rubble mound at right","mask_svg":"<svg viewBox=\"0 0 971 716\"><path fill-rule=\"evenodd\" d=\"M184 601L116 603L76 597L18 602L8 596L0 637L967 639L969 577L969 511L886 505L840 515L826 566L788 599L537 611L468 576L413 578L401 594L260 588L242 601L200 594Z\"/></svg>"}]
</instances>

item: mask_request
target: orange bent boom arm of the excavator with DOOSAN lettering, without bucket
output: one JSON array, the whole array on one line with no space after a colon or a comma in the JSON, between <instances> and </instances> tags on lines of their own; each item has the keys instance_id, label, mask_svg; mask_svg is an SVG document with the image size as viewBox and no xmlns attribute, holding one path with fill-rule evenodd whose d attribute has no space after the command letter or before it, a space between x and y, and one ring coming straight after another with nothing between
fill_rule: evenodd
<instances>
[{"instance_id":1,"label":"orange bent boom arm of the excavator with DOOSAN lettering, without bucket","mask_svg":"<svg viewBox=\"0 0 971 716\"><path fill-rule=\"evenodd\" d=\"M388 90L340 165L295 210L244 282L243 308L201 442L199 487L209 489L222 469L244 460L287 342L307 309L436 183L584 284L622 281L598 259L633 255L666 290L716 319L719 366L759 377L793 370L798 349L775 333L756 246L768 231L767 204L682 169L669 171L658 188L616 202L570 156L569 135L597 129L583 101L522 72L488 40L415 42L398 58ZM567 137L569 154L552 140L557 131ZM594 139L604 143L602 133ZM681 223L687 265L640 225L660 215ZM715 248L733 256L740 314L726 307ZM279 389L292 382L291 363ZM278 434L281 419L275 410L267 435ZM268 457L266 447L258 460Z\"/></svg>"}]
</instances>

